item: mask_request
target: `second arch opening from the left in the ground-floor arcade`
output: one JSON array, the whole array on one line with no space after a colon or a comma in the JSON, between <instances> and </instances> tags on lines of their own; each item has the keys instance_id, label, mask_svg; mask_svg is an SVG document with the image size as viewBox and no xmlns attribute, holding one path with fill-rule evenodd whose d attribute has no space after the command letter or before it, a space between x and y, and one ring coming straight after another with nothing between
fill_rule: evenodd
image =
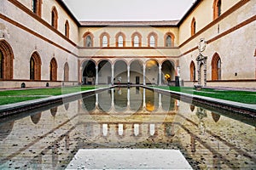
<instances>
[{"instance_id":1,"label":"second arch opening from the left in the ground-floor arcade","mask_svg":"<svg viewBox=\"0 0 256 170\"><path fill-rule=\"evenodd\" d=\"M102 60L98 64L98 83L111 84L111 64L108 60Z\"/></svg>"}]
</instances>

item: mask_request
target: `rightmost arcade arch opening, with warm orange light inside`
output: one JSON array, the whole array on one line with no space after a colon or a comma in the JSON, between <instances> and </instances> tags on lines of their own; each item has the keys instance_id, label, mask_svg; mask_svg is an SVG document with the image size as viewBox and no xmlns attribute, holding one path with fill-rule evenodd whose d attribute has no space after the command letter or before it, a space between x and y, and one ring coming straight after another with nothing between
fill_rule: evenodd
<instances>
[{"instance_id":1,"label":"rightmost arcade arch opening, with warm orange light inside","mask_svg":"<svg viewBox=\"0 0 256 170\"><path fill-rule=\"evenodd\" d=\"M172 61L166 60L162 64L161 83L175 85L175 66Z\"/></svg>"}]
</instances>

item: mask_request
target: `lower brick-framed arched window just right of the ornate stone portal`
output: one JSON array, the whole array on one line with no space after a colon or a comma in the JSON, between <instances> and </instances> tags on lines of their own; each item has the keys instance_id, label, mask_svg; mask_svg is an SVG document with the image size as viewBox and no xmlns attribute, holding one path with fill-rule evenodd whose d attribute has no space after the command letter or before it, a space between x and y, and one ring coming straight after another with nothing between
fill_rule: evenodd
<instances>
[{"instance_id":1,"label":"lower brick-framed arched window just right of the ornate stone portal","mask_svg":"<svg viewBox=\"0 0 256 170\"><path fill-rule=\"evenodd\" d=\"M212 57L212 80L221 80L221 59L217 53Z\"/></svg>"}]
</instances>

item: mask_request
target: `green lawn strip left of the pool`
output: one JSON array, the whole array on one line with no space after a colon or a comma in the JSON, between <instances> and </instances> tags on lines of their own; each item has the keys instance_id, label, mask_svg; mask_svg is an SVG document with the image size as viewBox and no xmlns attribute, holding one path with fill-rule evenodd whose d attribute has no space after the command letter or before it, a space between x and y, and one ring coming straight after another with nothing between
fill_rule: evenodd
<instances>
[{"instance_id":1,"label":"green lawn strip left of the pool","mask_svg":"<svg viewBox=\"0 0 256 170\"><path fill-rule=\"evenodd\" d=\"M66 87L66 88L39 88L0 91L0 105L13 104L31 99L46 98L49 96L71 94L94 89L94 86Z\"/></svg>"}]
</instances>

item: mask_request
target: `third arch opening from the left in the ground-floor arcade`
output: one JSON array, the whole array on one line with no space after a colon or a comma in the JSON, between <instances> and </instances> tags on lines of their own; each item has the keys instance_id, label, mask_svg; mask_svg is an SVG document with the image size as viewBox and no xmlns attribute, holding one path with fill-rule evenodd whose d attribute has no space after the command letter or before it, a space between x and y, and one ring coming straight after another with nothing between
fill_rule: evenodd
<instances>
[{"instance_id":1,"label":"third arch opening from the left in the ground-floor arcade","mask_svg":"<svg viewBox=\"0 0 256 170\"><path fill-rule=\"evenodd\" d=\"M125 61L118 60L114 64L113 69L113 82L114 83L127 83L127 65Z\"/></svg>"}]
</instances>

